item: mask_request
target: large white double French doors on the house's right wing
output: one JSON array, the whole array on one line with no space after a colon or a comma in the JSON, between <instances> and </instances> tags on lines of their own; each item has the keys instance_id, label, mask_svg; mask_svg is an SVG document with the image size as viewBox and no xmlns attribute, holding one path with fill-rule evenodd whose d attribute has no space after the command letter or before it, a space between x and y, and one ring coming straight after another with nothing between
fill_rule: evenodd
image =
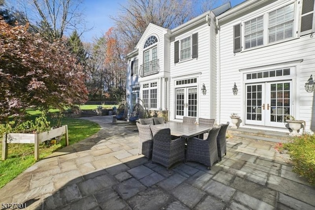
<instances>
[{"instance_id":1,"label":"large white double French doors on the house's right wing","mask_svg":"<svg viewBox=\"0 0 315 210\"><path fill-rule=\"evenodd\" d=\"M246 84L245 124L285 127L292 113L292 82Z\"/></svg>"}]
</instances>

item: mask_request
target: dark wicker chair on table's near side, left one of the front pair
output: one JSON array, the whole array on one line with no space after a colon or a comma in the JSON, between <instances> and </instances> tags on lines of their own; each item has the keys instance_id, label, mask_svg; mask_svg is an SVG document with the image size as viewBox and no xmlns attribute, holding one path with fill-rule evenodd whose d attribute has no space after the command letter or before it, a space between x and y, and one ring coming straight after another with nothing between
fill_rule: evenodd
<instances>
[{"instance_id":1,"label":"dark wicker chair on table's near side, left one of the front pair","mask_svg":"<svg viewBox=\"0 0 315 210\"><path fill-rule=\"evenodd\" d=\"M169 169L173 164L185 160L185 139L171 140L169 128L151 127L153 134L152 162L159 163Z\"/></svg>"}]
</instances>

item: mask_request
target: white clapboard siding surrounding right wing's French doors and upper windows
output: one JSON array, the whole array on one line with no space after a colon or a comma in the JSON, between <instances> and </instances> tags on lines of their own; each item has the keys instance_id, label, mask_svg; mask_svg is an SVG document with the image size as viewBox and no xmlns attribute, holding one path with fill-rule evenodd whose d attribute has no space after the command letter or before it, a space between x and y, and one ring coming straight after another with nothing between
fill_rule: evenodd
<instances>
[{"instance_id":1,"label":"white clapboard siding surrounding right wing's French doors and upper windows","mask_svg":"<svg viewBox=\"0 0 315 210\"><path fill-rule=\"evenodd\" d=\"M282 1L278 2L280 5ZM273 4L277 6L278 4ZM270 5L269 5L270 8ZM314 93L307 93L304 89L304 84L307 82L311 74L315 74L315 36L305 35L290 40L275 44L257 47L256 49L243 50L240 53L233 53L233 26L241 23L242 20L254 17L255 14L261 13L265 9L248 14L245 17L239 18L221 26L220 37L217 41L220 45L218 51L218 79L220 79L220 91L217 97L220 99L217 108L220 113L217 118L221 122L230 121L232 112L239 113L244 122L244 87L242 80L242 72L239 70L247 68L258 68L266 65L277 65L284 62L292 62L303 59L303 62L292 64L296 67L296 77L293 80L293 100L294 112L292 115L296 119L306 121L306 129L315 130L315 101ZM295 19L298 21L298 18ZM243 36L244 37L244 36ZM242 39L244 42L244 39ZM244 48L243 48L244 49ZM218 49L219 50L219 49ZM279 66L281 68L281 66ZM221 72L219 75L219 71ZM238 87L238 95L234 96L232 87L234 82ZM295 88L294 88L295 87ZM219 115L220 114L220 115ZM242 125L242 124L241 124Z\"/></svg>"}]
</instances>

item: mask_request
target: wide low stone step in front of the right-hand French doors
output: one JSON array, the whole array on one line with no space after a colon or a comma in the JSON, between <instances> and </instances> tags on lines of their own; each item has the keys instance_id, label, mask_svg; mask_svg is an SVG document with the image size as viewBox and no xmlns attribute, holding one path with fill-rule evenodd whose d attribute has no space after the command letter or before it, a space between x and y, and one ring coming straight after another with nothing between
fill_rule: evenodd
<instances>
[{"instance_id":1,"label":"wide low stone step in front of the right-hand French doors","mask_svg":"<svg viewBox=\"0 0 315 210\"><path fill-rule=\"evenodd\" d=\"M227 133L232 135L234 138L242 139L242 140L263 140L263 141L271 141L271 142L288 142L292 140L287 133L284 132L276 132L276 131L264 131L261 129L249 129L249 128L238 128L233 129L231 127L228 128Z\"/></svg>"}]
</instances>

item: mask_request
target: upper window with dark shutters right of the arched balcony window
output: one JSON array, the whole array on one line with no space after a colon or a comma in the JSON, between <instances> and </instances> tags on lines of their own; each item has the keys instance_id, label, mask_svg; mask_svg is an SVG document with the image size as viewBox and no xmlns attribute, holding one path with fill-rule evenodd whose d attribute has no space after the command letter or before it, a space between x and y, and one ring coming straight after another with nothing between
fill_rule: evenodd
<instances>
[{"instance_id":1,"label":"upper window with dark shutters right of the arched balcony window","mask_svg":"<svg viewBox=\"0 0 315 210\"><path fill-rule=\"evenodd\" d=\"M198 58L198 33L174 42L174 63Z\"/></svg>"}]
</instances>

